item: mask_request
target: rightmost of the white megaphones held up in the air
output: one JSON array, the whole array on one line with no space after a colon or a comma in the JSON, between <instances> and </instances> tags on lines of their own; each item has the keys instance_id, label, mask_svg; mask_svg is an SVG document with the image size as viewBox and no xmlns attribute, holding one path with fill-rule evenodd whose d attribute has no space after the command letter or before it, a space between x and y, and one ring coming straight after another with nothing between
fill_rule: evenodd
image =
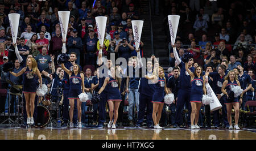
<instances>
[{"instance_id":1,"label":"rightmost of the white megaphones held up in the air","mask_svg":"<svg viewBox=\"0 0 256 151\"><path fill-rule=\"evenodd\" d=\"M168 15L168 23L169 23L172 45L174 45L175 43L177 28L179 26L179 20L180 20L179 15Z\"/></svg>"}]
</instances>

